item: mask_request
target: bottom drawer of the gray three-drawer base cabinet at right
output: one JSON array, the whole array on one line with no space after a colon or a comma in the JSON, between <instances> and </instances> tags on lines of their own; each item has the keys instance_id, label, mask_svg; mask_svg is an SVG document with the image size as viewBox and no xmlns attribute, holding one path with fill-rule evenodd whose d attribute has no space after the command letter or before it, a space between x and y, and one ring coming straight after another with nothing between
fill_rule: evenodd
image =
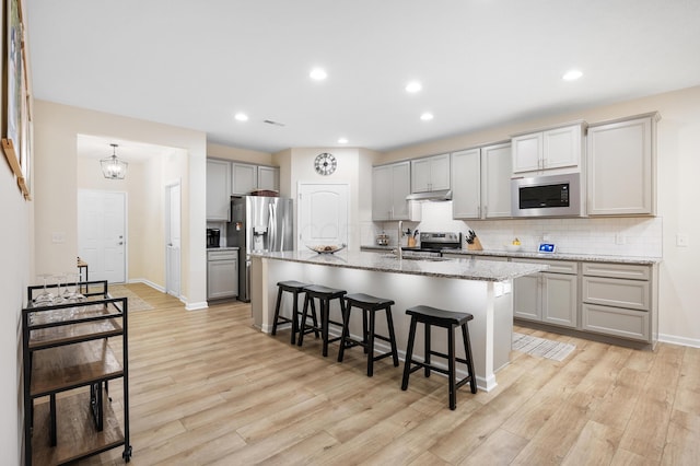
<instances>
[{"instance_id":1,"label":"bottom drawer of the gray three-drawer base cabinet at right","mask_svg":"<svg viewBox=\"0 0 700 466\"><path fill-rule=\"evenodd\" d=\"M649 341L646 312L583 304L581 325L584 330L597 334Z\"/></svg>"}]
</instances>

